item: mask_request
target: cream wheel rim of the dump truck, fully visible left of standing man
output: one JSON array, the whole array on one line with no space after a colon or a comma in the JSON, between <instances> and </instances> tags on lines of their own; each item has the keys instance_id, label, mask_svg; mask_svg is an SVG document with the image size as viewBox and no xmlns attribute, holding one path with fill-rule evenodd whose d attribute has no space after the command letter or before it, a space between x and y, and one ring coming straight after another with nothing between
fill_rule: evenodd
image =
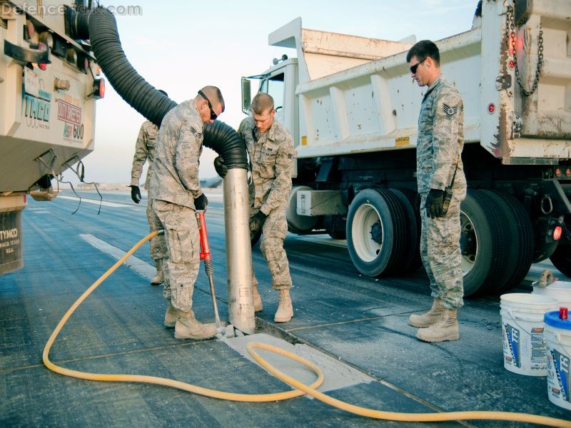
<instances>
[{"instance_id":1,"label":"cream wheel rim of the dump truck, fully visible left of standing man","mask_svg":"<svg viewBox=\"0 0 571 428\"><path fill-rule=\"evenodd\" d=\"M380 243L373 240L373 228L380 225ZM376 231L378 232L378 230ZM353 237L353 248L355 253L364 262L372 262L378 257L380 249L383 247L383 221L378 211L368 203L361 205L355 211L353 225L351 225Z\"/></svg>"}]
</instances>

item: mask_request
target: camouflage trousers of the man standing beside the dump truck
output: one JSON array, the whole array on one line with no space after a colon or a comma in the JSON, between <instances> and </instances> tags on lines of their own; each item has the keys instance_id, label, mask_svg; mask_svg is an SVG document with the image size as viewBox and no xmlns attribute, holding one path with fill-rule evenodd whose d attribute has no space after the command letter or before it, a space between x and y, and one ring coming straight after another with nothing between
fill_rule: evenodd
<instances>
[{"instance_id":1,"label":"camouflage trousers of the man standing beside the dump truck","mask_svg":"<svg viewBox=\"0 0 571 428\"><path fill-rule=\"evenodd\" d=\"M420 258L430 279L430 290L443 307L458 309L464 304L462 254L460 253L460 203L466 190L454 190L448 213L442 218L426 216L420 208L422 232L420 234ZM422 193L420 206L426 203L428 192Z\"/></svg>"}]
</instances>

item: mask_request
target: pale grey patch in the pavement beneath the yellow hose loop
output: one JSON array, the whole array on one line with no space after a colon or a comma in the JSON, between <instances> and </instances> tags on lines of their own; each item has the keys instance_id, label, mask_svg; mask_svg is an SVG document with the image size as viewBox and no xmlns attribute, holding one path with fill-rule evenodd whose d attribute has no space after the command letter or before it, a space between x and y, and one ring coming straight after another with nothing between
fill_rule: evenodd
<instances>
[{"instance_id":1,"label":"pale grey patch in the pavement beneath the yellow hose loop","mask_svg":"<svg viewBox=\"0 0 571 428\"><path fill-rule=\"evenodd\" d=\"M276 347L281 347L292 354L299 355L300 357L305 358L305 360L313 362L313 364L317 365L323 371L323 375L325 377L323 385L319 387L321 392L352 387L356 384L375 382L373 377L367 376L366 374L355 370L353 367L350 367L350 365L346 365L339 360L335 360L335 358L332 358L323 352L319 352L308 345L291 345L283 339L278 339L277 337L266 335L264 333L232 337L231 339L224 338L221 340L233 350L253 362L255 361L246 350L248 342L262 342ZM268 360L271 365L279 367L282 372L288 374L288 376L298 379L300 382L310 384L315 380L315 374L310 372L306 367L301 366L298 362L294 362L293 360L282 357L281 355L273 354L272 352L264 350L258 350L258 352L264 360ZM313 398L310 396L306 397Z\"/></svg>"}]
</instances>

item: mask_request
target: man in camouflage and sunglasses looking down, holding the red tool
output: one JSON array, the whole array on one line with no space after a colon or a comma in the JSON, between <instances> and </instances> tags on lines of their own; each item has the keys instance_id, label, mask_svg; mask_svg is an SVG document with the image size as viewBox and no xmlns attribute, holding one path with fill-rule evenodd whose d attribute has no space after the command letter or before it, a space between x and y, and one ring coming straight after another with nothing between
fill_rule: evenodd
<instances>
[{"instance_id":1,"label":"man in camouflage and sunglasses looking down, holding the red tool","mask_svg":"<svg viewBox=\"0 0 571 428\"><path fill-rule=\"evenodd\" d=\"M157 228L165 233L164 297L168 301L166 327L175 327L177 339L208 339L216 326L194 317L192 295L200 266L196 210L208 204L198 180L203 123L213 122L224 110L220 90L206 86L198 96L169 111L158 132L149 198Z\"/></svg>"}]
</instances>

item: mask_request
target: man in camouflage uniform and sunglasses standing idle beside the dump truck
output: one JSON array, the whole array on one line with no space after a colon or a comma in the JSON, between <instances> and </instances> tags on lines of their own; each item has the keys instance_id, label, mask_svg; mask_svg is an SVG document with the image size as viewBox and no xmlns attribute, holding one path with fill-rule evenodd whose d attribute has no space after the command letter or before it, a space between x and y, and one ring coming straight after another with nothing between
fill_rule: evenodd
<instances>
[{"instance_id":1,"label":"man in camouflage uniform and sunglasses standing idle beside the dump truck","mask_svg":"<svg viewBox=\"0 0 571 428\"><path fill-rule=\"evenodd\" d=\"M426 342L458 340L456 310L463 305L460 253L460 203L466 180L460 155L464 145L464 106L460 93L440 74L440 54L431 41L419 41L407 56L415 81L428 86L420 107L417 139L417 183L421 197L420 255L430 279L433 307L411 315ZM445 210L445 189L452 198Z\"/></svg>"}]
</instances>

